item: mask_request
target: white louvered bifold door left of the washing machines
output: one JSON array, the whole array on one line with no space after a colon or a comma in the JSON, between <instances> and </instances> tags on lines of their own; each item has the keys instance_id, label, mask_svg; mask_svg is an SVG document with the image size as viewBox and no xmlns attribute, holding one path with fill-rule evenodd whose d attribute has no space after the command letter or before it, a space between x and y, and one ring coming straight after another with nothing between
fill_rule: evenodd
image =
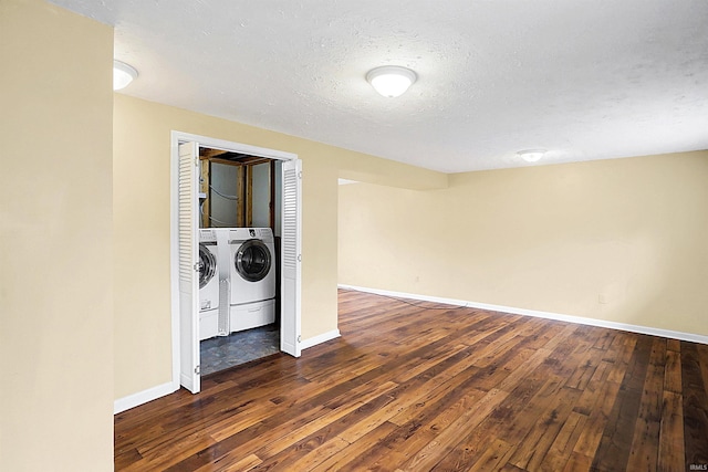
<instances>
[{"instance_id":1,"label":"white louvered bifold door left of the washing machines","mask_svg":"<svg viewBox=\"0 0 708 472\"><path fill-rule=\"evenodd\" d=\"M199 381L199 272L197 185L199 145L179 145L179 384L192 394Z\"/></svg>"}]
</instances>

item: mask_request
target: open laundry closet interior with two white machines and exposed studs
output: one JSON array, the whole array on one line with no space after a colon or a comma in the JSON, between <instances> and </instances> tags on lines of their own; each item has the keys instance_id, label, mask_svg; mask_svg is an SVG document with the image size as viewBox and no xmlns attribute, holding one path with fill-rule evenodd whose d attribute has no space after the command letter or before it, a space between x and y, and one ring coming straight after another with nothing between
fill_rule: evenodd
<instances>
[{"instance_id":1,"label":"open laundry closet interior with two white machines and exposed studs","mask_svg":"<svg viewBox=\"0 0 708 472\"><path fill-rule=\"evenodd\" d=\"M202 375L280 350L281 164L199 149Z\"/></svg>"}]
</instances>

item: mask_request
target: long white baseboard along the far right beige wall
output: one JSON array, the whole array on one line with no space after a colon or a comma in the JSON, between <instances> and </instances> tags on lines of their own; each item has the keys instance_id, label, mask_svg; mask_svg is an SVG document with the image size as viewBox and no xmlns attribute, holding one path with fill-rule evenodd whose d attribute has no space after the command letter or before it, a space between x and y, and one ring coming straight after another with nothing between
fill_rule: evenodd
<instances>
[{"instance_id":1,"label":"long white baseboard along the far right beige wall","mask_svg":"<svg viewBox=\"0 0 708 472\"><path fill-rule=\"evenodd\" d=\"M702 336L702 335L693 334L693 333L676 332L670 329L654 328L649 326L629 325L625 323L608 322L605 319L585 318L582 316L572 316L572 315L562 315L559 313L541 312L538 310L525 310L525 308L517 308L513 306L491 305L488 303L468 302L466 300L441 298L438 296L417 295L417 294L405 293L405 292L392 292L388 290L369 289L364 286L354 286L354 285L346 285L346 284L339 284L339 287L345 289L345 290L355 290L358 292L373 293L376 295L420 300L424 302L435 302L435 303L442 303L446 305L458 305L458 306L466 306L470 308L489 310L492 312L511 313L514 315L534 316L539 318L556 319L559 322L565 322L565 323L575 323L581 325L590 325L590 326L597 326L603 328L626 331L631 333L648 334L652 336L660 336L660 337L667 337L671 339L688 340L688 342L698 343L698 344L708 344L708 336Z\"/></svg>"}]
</instances>

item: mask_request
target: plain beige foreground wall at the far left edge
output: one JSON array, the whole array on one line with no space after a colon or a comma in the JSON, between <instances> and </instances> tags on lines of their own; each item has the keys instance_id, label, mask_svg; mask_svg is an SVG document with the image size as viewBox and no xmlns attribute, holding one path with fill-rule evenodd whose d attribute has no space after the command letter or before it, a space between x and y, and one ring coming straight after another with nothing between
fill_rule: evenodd
<instances>
[{"instance_id":1,"label":"plain beige foreground wall at the far left edge","mask_svg":"<svg viewBox=\"0 0 708 472\"><path fill-rule=\"evenodd\" d=\"M113 470L113 30L0 2L0 470Z\"/></svg>"}]
</instances>

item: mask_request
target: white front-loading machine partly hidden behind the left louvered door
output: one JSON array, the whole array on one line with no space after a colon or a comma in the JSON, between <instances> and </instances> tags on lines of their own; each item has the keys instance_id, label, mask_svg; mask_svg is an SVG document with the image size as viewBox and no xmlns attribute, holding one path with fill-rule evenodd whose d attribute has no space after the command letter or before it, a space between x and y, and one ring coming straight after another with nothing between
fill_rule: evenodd
<instances>
[{"instance_id":1,"label":"white front-loading machine partly hidden behind the left louvered door","mask_svg":"<svg viewBox=\"0 0 708 472\"><path fill-rule=\"evenodd\" d=\"M217 335L219 263L217 232L199 230L199 339Z\"/></svg>"}]
</instances>

